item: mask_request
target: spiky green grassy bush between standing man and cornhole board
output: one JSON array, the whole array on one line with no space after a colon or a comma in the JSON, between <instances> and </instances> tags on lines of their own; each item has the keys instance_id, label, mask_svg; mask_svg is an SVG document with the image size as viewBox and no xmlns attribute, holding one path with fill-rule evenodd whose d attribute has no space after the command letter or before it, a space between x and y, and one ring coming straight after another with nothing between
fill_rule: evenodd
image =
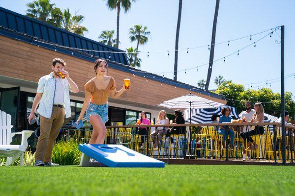
<instances>
[{"instance_id":1,"label":"spiky green grassy bush between standing man and cornhole board","mask_svg":"<svg viewBox=\"0 0 295 196\"><path fill-rule=\"evenodd\" d=\"M77 141L59 141L52 151L52 162L59 165L79 165L81 151Z\"/></svg>"}]
</instances>

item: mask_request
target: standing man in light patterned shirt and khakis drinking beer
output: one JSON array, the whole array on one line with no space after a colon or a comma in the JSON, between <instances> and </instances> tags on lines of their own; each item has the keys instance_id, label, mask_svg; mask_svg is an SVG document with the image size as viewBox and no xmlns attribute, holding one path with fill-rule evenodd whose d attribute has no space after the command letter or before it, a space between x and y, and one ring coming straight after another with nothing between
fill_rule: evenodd
<instances>
[{"instance_id":1,"label":"standing man in light patterned shirt and khakis drinking beer","mask_svg":"<svg viewBox=\"0 0 295 196\"><path fill-rule=\"evenodd\" d=\"M40 136L34 166L59 165L51 161L52 149L64 122L64 115L66 118L71 117L69 90L73 93L79 92L69 73L64 71L65 66L66 63L62 59L53 59L51 66L53 72L41 77L38 82L37 94L29 115L29 122L35 119L34 113L40 102L38 108L41 116Z\"/></svg>"}]
</instances>

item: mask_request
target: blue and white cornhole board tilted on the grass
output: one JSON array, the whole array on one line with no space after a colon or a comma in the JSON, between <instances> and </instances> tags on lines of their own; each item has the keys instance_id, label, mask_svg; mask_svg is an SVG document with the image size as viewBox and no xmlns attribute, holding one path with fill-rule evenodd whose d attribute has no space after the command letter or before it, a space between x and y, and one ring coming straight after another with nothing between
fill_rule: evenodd
<instances>
[{"instance_id":1,"label":"blue and white cornhole board tilted on the grass","mask_svg":"<svg viewBox=\"0 0 295 196\"><path fill-rule=\"evenodd\" d=\"M91 166L89 157L108 167L164 168L165 166L162 161L122 145L79 144L79 150L83 153L81 166Z\"/></svg>"}]
</instances>

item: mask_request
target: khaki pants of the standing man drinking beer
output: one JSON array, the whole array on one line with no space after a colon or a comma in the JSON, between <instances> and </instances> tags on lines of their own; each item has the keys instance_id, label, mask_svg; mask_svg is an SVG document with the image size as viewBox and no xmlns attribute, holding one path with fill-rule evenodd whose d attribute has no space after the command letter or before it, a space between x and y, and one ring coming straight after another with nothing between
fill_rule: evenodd
<instances>
[{"instance_id":1,"label":"khaki pants of the standing man drinking beer","mask_svg":"<svg viewBox=\"0 0 295 196\"><path fill-rule=\"evenodd\" d=\"M61 107L53 107L50 119L41 116L35 161L51 162L52 149L63 122L64 108Z\"/></svg>"}]
</instances>

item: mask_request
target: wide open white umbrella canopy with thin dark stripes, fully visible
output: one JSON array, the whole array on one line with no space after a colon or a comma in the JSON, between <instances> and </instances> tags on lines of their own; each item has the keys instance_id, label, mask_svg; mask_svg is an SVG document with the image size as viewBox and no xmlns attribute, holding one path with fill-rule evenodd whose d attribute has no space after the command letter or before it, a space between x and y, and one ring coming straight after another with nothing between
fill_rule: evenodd
<instances>
[{"instance_id":1,"label":"wide open white umbrella canopy with thin dark stripes, fully visible","mask_svg":"<svg viewBox=\"0 0 295 196\"><path fill-rule=\"evenodd\" d=\"M218 108L224 104L190 94L164 101L158 105L170 109L199 109Z\"/></svg>"}]
</instances>

